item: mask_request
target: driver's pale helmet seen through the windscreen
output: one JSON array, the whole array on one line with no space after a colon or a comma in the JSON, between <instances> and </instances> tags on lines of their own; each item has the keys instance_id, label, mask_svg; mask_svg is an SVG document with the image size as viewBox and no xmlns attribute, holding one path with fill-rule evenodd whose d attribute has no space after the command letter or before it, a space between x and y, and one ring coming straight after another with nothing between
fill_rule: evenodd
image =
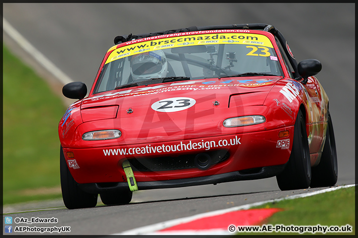
<instances>
[{"instance_id":1,"label":"driver's pale helmet seen through the windscreen","mask_svg":"<svg viewBox=\"0 0 358 238\"><path fill-rule=\"evenodd\" d=\"M133 81L162 78L167 75L168 62L162 50L135 55L130 60Z\"/></svg>"}]
</instances>

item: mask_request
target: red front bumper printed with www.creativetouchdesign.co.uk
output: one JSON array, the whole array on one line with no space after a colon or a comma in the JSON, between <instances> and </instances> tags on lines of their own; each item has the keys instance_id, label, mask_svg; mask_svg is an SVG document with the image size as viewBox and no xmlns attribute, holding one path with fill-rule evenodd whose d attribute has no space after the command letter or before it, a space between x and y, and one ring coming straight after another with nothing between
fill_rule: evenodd
<instances>
[{"instance_id":1,"label":"red front bumper printed with www.creativetouchdesign.co.uk","mask_svg":"<svg viewBox=\"0 0 358 238\"><path fill-rule=\"evenodd\" d=\"M141 171L133 168L138 187L148 189L262 179L279 173L279 169L271 172L270 167L287 163L292 149L293 128L293 126L285 126L258 132L161 143L63 148L63 151L72 176L81 184L112 182L119 184L116 186L126 184L126 175L122 168L122 163L126 159L143 161L170 158L175 161L218 150L226 151L226 157L205 170L195 167ZM288 130L289 136L279 138L278 134L283 130ZM285 146L282 146L282 141L285 141ZM68 158L67 152L73 152L74 158ZM253 171L250 173L242 172L251 169Z\"/></svg>"}]
</instances>

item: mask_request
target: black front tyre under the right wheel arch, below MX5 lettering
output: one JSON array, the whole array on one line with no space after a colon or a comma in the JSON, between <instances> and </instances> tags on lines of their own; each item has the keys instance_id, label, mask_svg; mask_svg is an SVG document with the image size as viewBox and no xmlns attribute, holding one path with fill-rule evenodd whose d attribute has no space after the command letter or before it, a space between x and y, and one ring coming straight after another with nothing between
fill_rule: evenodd
<instances>
[{"instance_id":1,"label":"black front tyre under the right wheel arch, below MX5 lettering","mask_svg":"<svg viewBox=\"0 0 358 238\"><path fill-rule=\"evenodd\" d=\"M299 110L294 124L291 155L284 171L276 176L276 180L282 191L308 188L311 183L311 174L306 123L301 110Z\"/></svg>"}]
</instances>

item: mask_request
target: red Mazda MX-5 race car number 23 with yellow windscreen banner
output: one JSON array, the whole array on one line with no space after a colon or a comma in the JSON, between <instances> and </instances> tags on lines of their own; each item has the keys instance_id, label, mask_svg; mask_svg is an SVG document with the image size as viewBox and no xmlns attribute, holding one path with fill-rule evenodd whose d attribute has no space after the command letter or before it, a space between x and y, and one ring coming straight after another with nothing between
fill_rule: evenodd
<instances>
[{"instance_id":1,"label":"red Mazda MX-5 race car number 23 with yellow windscreen banner","mask_svg":"<svg viewBox=\"0 0 358 238\"><path fill-rule=\"evenodd\" d=\"M337 155L318 60L298 64L268 24L117 36L87 95L59 122L67 208L126 204L141 189L276 176L330 186Z\"/></svg>"}]
</instances>

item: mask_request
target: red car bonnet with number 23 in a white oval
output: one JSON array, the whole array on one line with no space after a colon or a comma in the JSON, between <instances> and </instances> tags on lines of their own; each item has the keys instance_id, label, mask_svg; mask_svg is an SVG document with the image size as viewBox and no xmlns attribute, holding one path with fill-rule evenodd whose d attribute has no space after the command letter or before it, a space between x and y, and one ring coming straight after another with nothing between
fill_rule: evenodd
<instances>
[{"instance_id":1,"label":"red car bonnet with number 23 in a white oval","mask_svg":"<svg viewBox=\"0 0 358 238\"><path fill-rule=\"evenodd\" d=\"M250 113L247 106L263 105L281 78L188 80L125 88L84 99L81 115L91 130L120 129L120 144L210 137L225 133L224 119ZM237 127L244 129L249 128Z\"/></svg>"}]
</instances>

